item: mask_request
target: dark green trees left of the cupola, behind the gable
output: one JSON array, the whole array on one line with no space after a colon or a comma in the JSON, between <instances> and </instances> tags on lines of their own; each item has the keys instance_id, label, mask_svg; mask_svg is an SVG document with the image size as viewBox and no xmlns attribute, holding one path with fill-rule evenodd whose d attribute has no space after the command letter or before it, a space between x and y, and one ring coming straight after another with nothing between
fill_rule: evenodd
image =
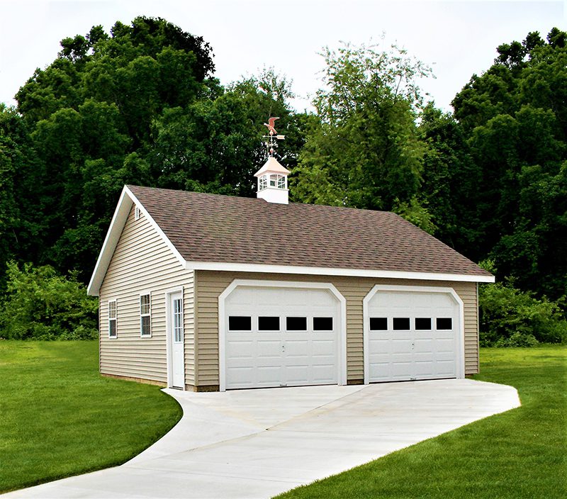
<instances>
[{"instance_id":1,"label":"dark green trees left of the cupola, behind the gable","mask_svg":"<svg viewBox=\"0 0 567 499\"><path fill-rule=\"evenodd\" d=\"M61 45L18 91L21 116L0 110L1 123L23 130L18 140L9 131L11 156L23 159L0 169L1 228L4 219L23 226L6 226L0 264L27 250L26 261L75 269L86 283L124 184L252 196L270 114L295 138L282 152L297 157L286 80L266 71L224 89L210 45L172 23L137 17Z\"/></svg>"}]
</instances>

